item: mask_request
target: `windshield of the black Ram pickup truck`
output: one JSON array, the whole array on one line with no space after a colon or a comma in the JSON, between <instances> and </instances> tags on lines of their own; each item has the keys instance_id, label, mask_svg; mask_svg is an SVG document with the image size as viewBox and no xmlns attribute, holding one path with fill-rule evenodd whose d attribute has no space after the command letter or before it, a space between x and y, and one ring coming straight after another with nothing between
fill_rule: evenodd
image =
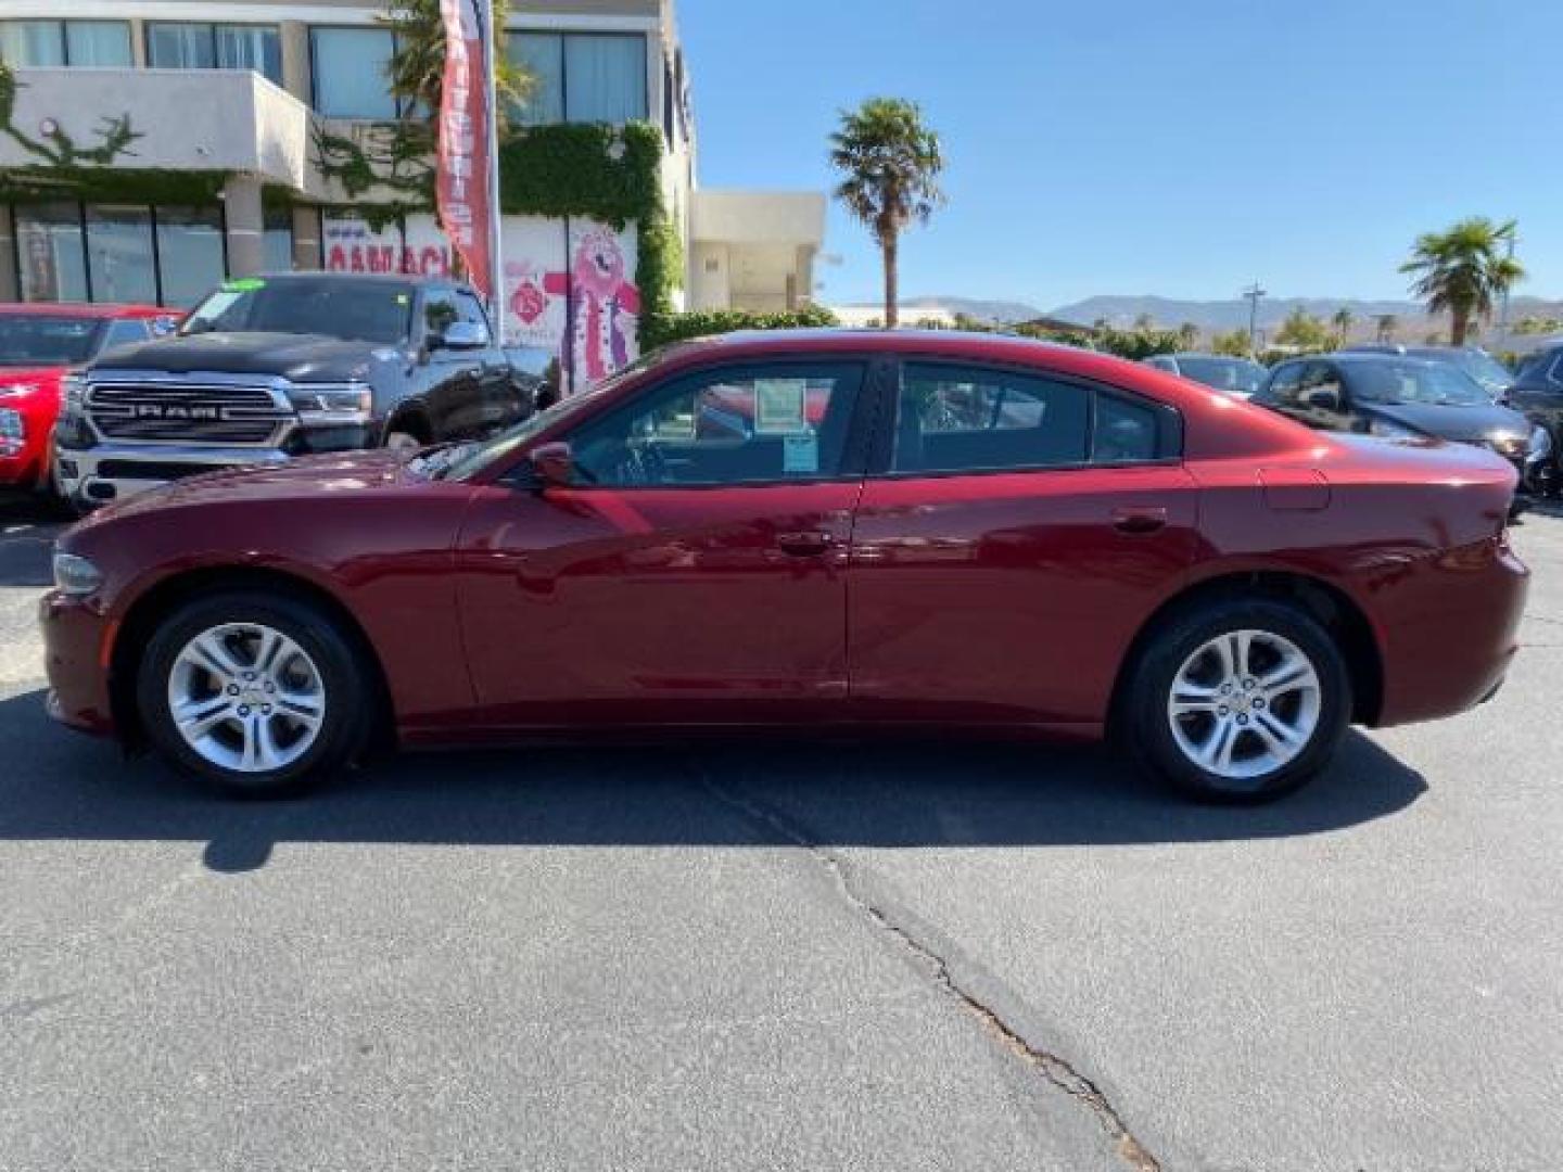
<instances>
[{"instance_id":1,"label":"windshield of the black Ram pickup truck","mask_svg":"<svg viewBox=\"0 0 1563 1172\"><path fill-rule=\"evenodd\" d=\"M195 306L180 333L327 334L397 345L411 323L413 286L402 281L247 278L228 281Z\"/></svg>"}]
</instances>

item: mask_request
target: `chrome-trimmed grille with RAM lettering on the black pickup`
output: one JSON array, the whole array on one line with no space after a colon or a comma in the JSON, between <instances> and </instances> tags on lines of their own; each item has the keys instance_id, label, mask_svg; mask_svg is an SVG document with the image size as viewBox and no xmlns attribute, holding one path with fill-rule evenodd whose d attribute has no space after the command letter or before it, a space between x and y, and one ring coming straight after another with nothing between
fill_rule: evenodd
<instances>
[{"instance_id":1,"label":"chrome-trimmed grille with RAM lettering on the black pickup","mask_svg":"<svg viewBox=\"0 0 1563 1172\"><path fill-rule=\"evenodd\" d=\"M105 439L274 447L297 420L267 386L208 381L91 381L86 414Z\"/></svg>"}]
</instances>

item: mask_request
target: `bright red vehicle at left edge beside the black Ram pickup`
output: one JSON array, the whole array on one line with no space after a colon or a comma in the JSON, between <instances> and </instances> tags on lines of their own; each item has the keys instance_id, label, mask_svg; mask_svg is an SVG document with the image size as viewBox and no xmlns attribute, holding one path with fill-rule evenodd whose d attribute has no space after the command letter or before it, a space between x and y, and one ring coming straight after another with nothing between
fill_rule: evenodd
<instances>
[{"instance_id":1,"label":"bright red vehicle at left edge beside the black Ram pickup","mask_svg":"<svg viewBox=\"0 0 1563 1172\"><path fill-rule=\"evenodd\" d=\"M156 305L0 303L0 494L48 492L59 380L105 350L169 333Z\"/></svg>"}]
</instances>

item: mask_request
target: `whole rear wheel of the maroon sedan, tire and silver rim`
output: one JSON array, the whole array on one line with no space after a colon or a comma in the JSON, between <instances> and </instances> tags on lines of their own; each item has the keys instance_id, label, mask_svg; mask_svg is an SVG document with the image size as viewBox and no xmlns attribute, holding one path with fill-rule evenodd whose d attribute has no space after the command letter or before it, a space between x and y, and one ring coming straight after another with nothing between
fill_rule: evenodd
<instances>
[{"instance_id":1,"label":"whole rear wheel of the maroon sedan, tire and silver rim","mask_svg":"<svg viewBox=\"0 0 1563 1172\"><path fill-rule=\"evenodd\" d=\"M1213 602L1157 630L1125 695L1138 759L1186 794L1264 802L1314 777L1350 720L1330 633L1285 602Z\"/></svg>"}]
</instances>

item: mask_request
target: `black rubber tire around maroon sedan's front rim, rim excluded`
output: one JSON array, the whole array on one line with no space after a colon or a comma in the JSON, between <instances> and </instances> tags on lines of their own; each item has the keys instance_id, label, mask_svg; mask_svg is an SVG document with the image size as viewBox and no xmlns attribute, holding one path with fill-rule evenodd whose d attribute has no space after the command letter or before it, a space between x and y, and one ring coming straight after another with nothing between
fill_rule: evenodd
<instances>
[{"instance_id":1,"label":"black rubber tire around maroon sedan's front rim, rim excluded","mask_svg":"<svg viewBox=\"0 0 1563 1172\"><path fill-rule=\"evenodd\" d=\"M325 716L309 749L269 772L242 772L208 761L178 731L169 709L169 678L180 652L224 624L263 624L292 639L319 670ZM136 703L153 747L181 772L236 797L291 797L352 764L374 727L375 692L353 644L328 616L286 595L233 591L188 602L158 624L141 659Z\"/></svg>"}]
</instances>

